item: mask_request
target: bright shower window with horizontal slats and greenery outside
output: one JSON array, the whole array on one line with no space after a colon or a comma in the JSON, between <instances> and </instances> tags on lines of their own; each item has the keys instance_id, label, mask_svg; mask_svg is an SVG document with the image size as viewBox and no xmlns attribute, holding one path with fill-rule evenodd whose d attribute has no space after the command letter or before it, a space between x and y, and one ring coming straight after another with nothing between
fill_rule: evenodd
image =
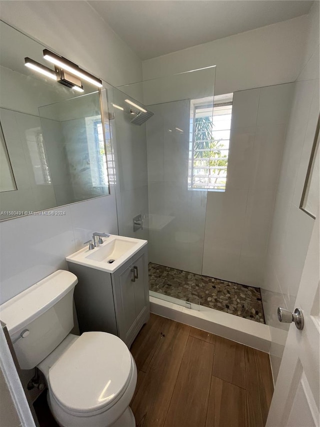
<instances>
[{"instance_id":1,"label":"bright shower window with horizontal slats and greenery outside","mask_svg":"<svg viewBox=\"0 0 320 427\"><path fill-rule=\"evenodd\" d=\"M188 189L225 191L233 94L191 100Z\"/></svg>"}]
</instances>

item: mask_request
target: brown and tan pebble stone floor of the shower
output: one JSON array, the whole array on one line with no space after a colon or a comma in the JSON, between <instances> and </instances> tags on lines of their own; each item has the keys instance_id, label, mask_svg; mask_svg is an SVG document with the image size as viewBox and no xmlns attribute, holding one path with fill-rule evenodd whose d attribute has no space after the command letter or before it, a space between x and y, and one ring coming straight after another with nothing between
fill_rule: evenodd
<instances>
[{"instance_id":1,"label":"brown and tan pebble stone floor of the shower","mask_svg":"<svg viewBox=\"0 0 320 427\"><path fill-rule=\"evenodd\" d=\"M259 288L149 263L149 289L264 323Z\"/></svg>"}]
</instances>

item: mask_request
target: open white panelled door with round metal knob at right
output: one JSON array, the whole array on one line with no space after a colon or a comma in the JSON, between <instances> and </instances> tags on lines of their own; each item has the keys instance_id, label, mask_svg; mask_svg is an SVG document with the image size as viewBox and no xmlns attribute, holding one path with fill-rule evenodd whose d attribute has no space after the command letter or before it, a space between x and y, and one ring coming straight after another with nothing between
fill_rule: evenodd
<instances>
[{"instance_id":1,"label":"open white panelled door with round metal knob at right","mask_svg":"<svg viewBox=\"0 0 320 427\"><path fill-rule=\"evenodd\" d=\"M319 215L315 220L295 308L304 328L291 323L266 427L319 427Z\"/></svg>"}]
</instances>

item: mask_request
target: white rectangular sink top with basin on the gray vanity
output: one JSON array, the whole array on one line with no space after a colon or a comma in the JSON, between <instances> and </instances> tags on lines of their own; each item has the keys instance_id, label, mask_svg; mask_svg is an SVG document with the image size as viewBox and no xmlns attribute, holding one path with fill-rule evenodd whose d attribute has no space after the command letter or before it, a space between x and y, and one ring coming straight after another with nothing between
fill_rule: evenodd
<instances>
[{"instance_id":1,"label":"white rectangular sink top with basin on the gray vanity","mask_svg":"<svg viewBox=\"0 0 320 427\"><path fill-rule=\"evenodd\" d=\"M146 240L110 235L96 248L89 250L88 246L85 246L65 259L68 262L113 273L146 244Z\"/></svg>"}]
</instances>

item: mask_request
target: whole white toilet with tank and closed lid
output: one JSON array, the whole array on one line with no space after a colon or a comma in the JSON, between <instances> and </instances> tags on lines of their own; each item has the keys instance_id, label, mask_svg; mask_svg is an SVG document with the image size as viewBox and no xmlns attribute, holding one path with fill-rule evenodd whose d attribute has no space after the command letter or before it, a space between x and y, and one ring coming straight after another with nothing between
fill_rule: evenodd
<instances>
[{"instance_id":1,"label":"whole white toilet with tank and closed lid","mask_svg":"<svg viewBox=\"0 0 320 427\"><path fill-rule=\"evenodd\" d=\"M21 369L38 367L62 427L134 427L134 359L115 335L73 328L77 278L58 270L0 305Z\"/></svg>"}]
</instances>

